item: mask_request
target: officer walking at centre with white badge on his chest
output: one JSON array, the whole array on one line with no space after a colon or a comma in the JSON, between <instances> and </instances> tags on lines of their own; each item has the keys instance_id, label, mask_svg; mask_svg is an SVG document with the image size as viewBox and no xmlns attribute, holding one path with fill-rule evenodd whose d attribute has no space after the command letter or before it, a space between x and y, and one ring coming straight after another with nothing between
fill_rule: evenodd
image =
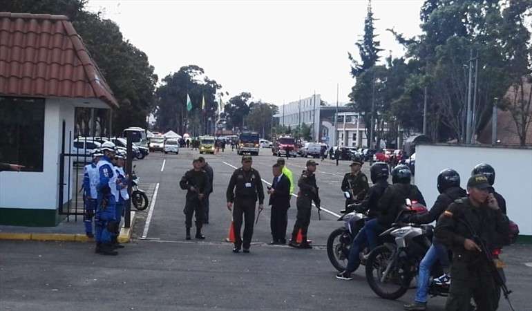
<instances>
[{"instance_id":1,"label":"officer walking at centre with white badge on his chest","mask_svg":"<svg viewBox=\"0 0 532 311\"><path fill-rule=\"evenodd\" d=\"M258 210L264 209L264 189L260 174L251 167L251 156L242 157L242 167L236 169L227 186L227 209L233 210L235 230L235 245L233 252L240 252L240 247L245 253L249 253L251 238L253 237L253 225L255 220L255 206L258 198ZM244 241L240 236L242 221L245 221Z\"/></svg>"}]
</instances>

